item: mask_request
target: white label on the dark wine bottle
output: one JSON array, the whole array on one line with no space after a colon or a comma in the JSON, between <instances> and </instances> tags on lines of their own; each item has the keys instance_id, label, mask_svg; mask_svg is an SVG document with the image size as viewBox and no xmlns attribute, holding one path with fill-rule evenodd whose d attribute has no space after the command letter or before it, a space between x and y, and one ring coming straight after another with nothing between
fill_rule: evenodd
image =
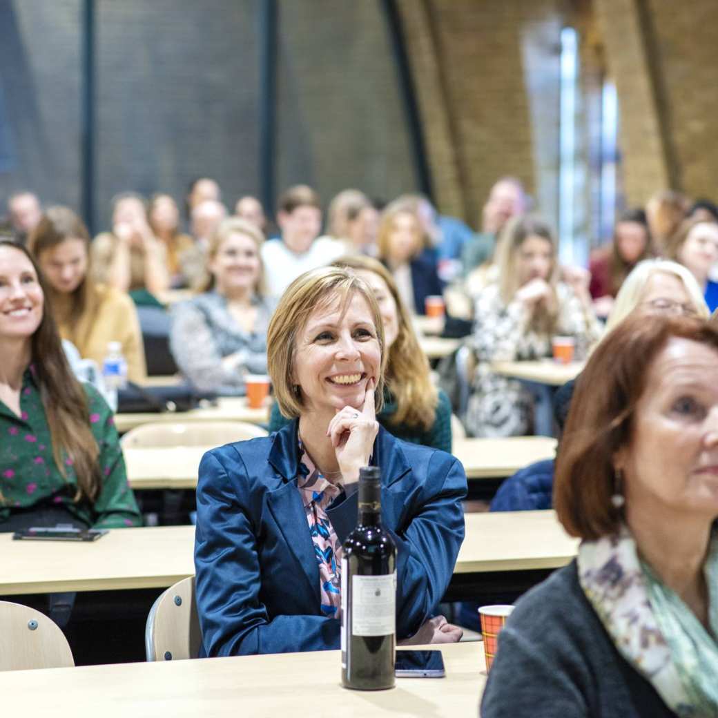
<instances>
[{"instance_id":1,"label":"white label on the dark wine bottle","mask_svg":"<svg viewBox=\"0 0 718 718\"><path fill-rule=\"evenodd\" d=\"M345 574L342 572L342 577ZM396 572L353 576L352 635L389 635L396 630Z\"/></svg>"}]
</instances>

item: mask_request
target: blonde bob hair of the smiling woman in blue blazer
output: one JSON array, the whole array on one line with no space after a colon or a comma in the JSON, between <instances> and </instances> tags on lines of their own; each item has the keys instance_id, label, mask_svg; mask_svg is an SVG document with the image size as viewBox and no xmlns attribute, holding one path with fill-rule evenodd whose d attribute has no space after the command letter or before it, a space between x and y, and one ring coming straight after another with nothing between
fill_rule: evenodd
<instances>
[{"instance_id":1,"label":"blonde bob hair of the smiling woman in blue blazer","mask_svg":"<svg viewBox=\"0 0 718 718\"><path fill-rule=\"evenodd\" d=\"M350 300L360 294L369 306L381 352L381 365L374 388L375 408L381 411L384 394L384 327L378 304L368 284L352 269L319 267L310 269L295 279L279 299L267 330L267 369L274 386L279 411L287 419L296 419L304 413L302 390L294 381L294 361L297 355L297 337L317 310L327 310L340 302L345 312Z\"/></svg>"}]
</instances>

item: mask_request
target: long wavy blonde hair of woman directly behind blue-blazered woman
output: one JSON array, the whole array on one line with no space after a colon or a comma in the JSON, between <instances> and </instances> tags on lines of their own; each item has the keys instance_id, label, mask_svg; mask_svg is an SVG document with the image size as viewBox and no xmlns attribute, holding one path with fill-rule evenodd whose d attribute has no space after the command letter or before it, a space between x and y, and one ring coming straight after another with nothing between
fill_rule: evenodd
<instances>
[{"instance_id":1,"label":"long wavy blonde hair of woman directly behind blue-blazered woman","mask_svg":"<svg viewBox=\"0 0 718 718\"><path fill-rule=\"evenodd\" d=\"M370 271L386 284L398 314L398 333L389 347L386 361L386 386L396 401L396 412L391 415L388 423L393 426L407 424L429 431L436 418L439 392L432 383L429 360L419 346L411 317L401 302L391 272L380 261L355 254L336 259L332 266Z\"/></svg>"}]
</instances>

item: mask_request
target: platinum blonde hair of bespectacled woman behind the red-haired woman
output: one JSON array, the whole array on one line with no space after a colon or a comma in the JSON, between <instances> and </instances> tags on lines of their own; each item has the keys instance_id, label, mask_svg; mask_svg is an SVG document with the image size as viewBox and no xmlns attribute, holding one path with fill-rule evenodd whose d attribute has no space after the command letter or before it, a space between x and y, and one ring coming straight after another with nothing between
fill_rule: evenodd
<instances>
[{"instance_id":1,"label":"platinum blonde hair of bespectacled woman behind the red-haired woman","mask_svg":"<svg viewBox=\"0 0 718 718\"><path fill-rule=\"evenodd\" d=\"M686 269L682 264L670 259L644 259L636 264L621 285L606 322L604 338L638 307L648 280L658 272L675 276L686 289L686 293L696 309L696 315L701 319L706 319L709 316L710 312L706 300L703 298L703 292L690 269Z\"/></svg>"}]
</instances>

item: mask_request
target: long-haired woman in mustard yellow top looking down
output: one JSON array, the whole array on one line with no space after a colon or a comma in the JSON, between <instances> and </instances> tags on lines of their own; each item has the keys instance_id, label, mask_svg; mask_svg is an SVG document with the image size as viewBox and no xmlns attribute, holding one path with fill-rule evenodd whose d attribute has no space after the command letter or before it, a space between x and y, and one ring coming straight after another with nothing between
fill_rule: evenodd
<instances>
[{"instance_id":1,"label":"long-haired woman in mustard yellow top looking down","mask_svg":"<svg viewBox=\"0 0 718 718\"><path fill-rule=\"evenodd\" d=\"M109 342L120 342L131 381L146 377L137 310L127 294L95 284L90 269L90 235L66 207L50 207L28 240L47 279L47 301L60 330L85 359L102 367Z\"/></svg>"}]
</instances>

